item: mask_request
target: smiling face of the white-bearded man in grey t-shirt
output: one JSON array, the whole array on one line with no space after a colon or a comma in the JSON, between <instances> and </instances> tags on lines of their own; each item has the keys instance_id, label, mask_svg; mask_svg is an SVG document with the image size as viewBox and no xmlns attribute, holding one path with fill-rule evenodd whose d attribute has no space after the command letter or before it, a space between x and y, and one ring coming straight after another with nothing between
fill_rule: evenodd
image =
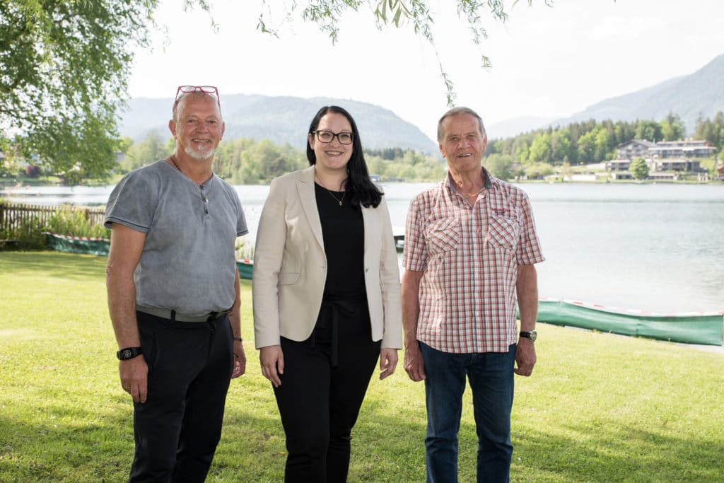
<instances>
[{"instance_id":1,"label":"smiling face of the white-bearded man in grey t-shirt","mask_svg":"<svg viewBox=\"0 0 724 483\"><path fill-rule=\"evenodd\" d=\"M177 107L176 119L169 129L177 145L193 159L214 156L224 136L224 122L216 98L207 94L188 94Z\"/></svg>"}]
</instances>

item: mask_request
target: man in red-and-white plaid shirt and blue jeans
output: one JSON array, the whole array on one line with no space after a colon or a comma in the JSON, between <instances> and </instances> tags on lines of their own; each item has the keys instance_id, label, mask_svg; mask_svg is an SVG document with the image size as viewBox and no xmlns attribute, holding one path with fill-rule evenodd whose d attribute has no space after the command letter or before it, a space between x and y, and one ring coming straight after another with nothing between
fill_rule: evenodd
<instances>
[{"instance_id":1,"label":"man in red-and-white plaid shirt and blue jeans","mask_svg":"<svg viewBox=\"0 0 724 483\"><path fill-rule=\"evenodd\" d=\"M437 140L448 174L410 204L402 287L405 371L425 381L427 481L458 481L467 376L478 481L507 482L513 374L530 376L536 363L534 264L544 257L526 193L481 165L487 135L479 115L451 109Z\"/></svg>"}]
</instances>

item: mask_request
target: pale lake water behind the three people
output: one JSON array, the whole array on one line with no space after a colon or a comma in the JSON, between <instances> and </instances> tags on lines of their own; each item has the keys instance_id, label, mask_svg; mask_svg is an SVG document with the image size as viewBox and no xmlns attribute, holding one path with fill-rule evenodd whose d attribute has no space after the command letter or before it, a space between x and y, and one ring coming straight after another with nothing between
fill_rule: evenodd
<instances>
[{"instance_id":1,"label":"pale lake water behind the three people","mask_svg":"<svg viewBox=\"0 0 724 483\"><path fill-rule=\"evenodd\" d=\"M384 185L392 224L434 183ZM652 312L724 311L724 186L525 184L542 297ZM112 187L13 188L23 203L104 204ZM237 186L253 240L268 186Z\"/></svg>"}]
</instances>

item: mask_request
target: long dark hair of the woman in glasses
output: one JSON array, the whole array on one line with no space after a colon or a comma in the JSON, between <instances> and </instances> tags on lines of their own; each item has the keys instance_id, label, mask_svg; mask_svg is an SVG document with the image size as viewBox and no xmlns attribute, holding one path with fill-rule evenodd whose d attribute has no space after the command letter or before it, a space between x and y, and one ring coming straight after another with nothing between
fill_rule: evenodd
<instances>
[{"instance_id":1,"label":"long dark hair of the woman in glasses","mask_svg":"<svg viewBox=\"0 0 724 483\"><path fill-rule=\"evenodd\" d=\"M374 182L369 179L369 171L367 169L367 163L364 160L364 154L362 152L362 141L360 140L360 133L357 130L357 124L355 119L352 119L352 115L340 106L324 106L316 113L314 119L312 119L309 125L308 133L314 133L319 121L324 114L334 112L335 114L342 114L350 122L352 126L352 156L347 164L347 180L345 181L345 190L349 191L351 198L350 203L353 206L365 206L369 208L372 206L376 208L380 201L382 201L382 191L380 191ZM307 159L309 165L316 164L316 154L314 150L307 143Z\"/></svg>"}]
</instances>

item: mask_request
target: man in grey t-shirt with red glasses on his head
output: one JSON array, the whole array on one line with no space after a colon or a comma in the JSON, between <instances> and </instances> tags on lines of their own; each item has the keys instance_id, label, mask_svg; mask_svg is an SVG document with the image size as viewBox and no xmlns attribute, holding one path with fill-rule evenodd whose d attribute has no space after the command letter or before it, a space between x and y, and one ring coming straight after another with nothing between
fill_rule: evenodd
<instances>
[{"instance_id":1,"label":"man in grey t-shirt with red glasses on his head","mask_svg":"<svg viewBox=\"0 0 724 483\"><path fill-rule=\"evenodd\" d=\"M234 188L211 171L224 135L216 88L178 88L169 130L174 154L126 175L106 207L131 482L206 478L230 379L246 366L235 241L248 230Z\"/></svg>"}]
</instances>

